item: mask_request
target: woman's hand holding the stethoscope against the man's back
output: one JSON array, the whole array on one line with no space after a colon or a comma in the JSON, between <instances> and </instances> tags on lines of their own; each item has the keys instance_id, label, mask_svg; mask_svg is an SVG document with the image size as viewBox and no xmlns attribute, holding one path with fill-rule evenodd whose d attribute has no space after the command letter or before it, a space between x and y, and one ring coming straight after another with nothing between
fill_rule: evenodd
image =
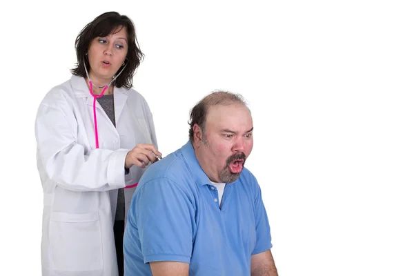
<instances>
[{"instance_id":1,"label":"woman's hand holding the stethoscope against the man's back","mask_svg":"<svg viewBox=\"0 0 414 276\"><path fill-rule=\"evenodd\" d=\"M157 161L157 156L161 156L154 145L152 144L137 144L135 148L132 148L128 152L125 158L125 168L131 168L132 165L139 168L145 168L151 162L152 164Z\"/></svg>"}]
</instances>

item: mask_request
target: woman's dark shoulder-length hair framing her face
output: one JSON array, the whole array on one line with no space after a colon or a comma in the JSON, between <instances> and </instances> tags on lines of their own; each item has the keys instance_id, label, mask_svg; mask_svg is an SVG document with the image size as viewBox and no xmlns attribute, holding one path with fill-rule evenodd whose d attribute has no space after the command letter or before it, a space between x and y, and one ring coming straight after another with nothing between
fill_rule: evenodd
<instances>
[{"instance_id":1,"label":"woman's dark shoulder-length hair framing her face","mask_svg":"<svg viewBox=\"0 0 414 276\"><path fill-rule=\"evenodd\" d=\"M128 34L128 53L126 54L125 61L126 68L115 80L115 86L128 89L132 87L132 77L135 70L137 70L139 64L144 59L144 54L139 49L134 23L132 23L126 15L121 15L118 12L105 12L99 15L99 17L88 23L88 25L79 32L75 41L77 64L75 65L75 68L70 70L72 75L86 77L83 63L85 63L86 69L89 72L90 65L86 53L88 52L90 42L92 39L95 39L95 37L106 37L108 34L114 32L114 30L117 30L119 26L126 28ZM121 66L119 70L122 70L122 68L123 66Z\"/></svg>"}]
</instances>

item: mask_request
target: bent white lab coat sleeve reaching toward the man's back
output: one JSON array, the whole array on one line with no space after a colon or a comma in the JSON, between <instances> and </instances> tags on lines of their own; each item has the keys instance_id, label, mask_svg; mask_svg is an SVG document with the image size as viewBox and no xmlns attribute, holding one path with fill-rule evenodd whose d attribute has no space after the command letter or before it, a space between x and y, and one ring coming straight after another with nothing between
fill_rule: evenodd
<instances>
[{"instance_id":1,"label":"bent white lab coat sleeve reaching toward the man's back","mask_svg":"<svg viewBox=\"0 0 414 276\"><path fill-rule=\"evenodd\" d=\"M126 149L94 149L77 144L78 124L66 106L41 104L35 122L39 159L58 186L75 191L124 188Z\"/></svg>"}]
</instances>

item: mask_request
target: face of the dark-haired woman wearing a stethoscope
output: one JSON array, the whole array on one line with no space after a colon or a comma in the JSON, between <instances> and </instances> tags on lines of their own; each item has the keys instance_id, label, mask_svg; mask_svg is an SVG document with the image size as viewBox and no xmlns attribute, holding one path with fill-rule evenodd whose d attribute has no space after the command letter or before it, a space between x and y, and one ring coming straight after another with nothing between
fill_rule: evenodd
<instances>
[{"instance_id":1,"label":"face of the dark-haired woman wearing a stethoscope","mask_svg":"<svg viewBox=\"0 0 414 276\"><path fill-rule=\"evenodd\" d=\"M106 37L95 37L90 42L88 60L89 75L99 85L112 80L124 63L128 52L126 28L119 26Z\"/></svg>"}]
</instances>

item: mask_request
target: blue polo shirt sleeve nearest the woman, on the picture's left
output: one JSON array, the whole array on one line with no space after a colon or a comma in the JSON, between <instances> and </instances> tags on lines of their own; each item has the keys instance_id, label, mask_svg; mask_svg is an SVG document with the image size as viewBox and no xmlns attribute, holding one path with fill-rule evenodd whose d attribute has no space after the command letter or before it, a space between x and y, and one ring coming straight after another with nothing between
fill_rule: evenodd
<instances>
[{"instance_id":1,"label":"blue polo shirt sleeve nearest the woman, on the picture's left","mask_svg":"<svg viewBox=\"0 0 414 276\"><path fill-rule=\"evenodd\" d=\"M190 264L195 208L174 181L160 177L137 191L137 228L144 262Z\"/></svg>"}]
</instances>

